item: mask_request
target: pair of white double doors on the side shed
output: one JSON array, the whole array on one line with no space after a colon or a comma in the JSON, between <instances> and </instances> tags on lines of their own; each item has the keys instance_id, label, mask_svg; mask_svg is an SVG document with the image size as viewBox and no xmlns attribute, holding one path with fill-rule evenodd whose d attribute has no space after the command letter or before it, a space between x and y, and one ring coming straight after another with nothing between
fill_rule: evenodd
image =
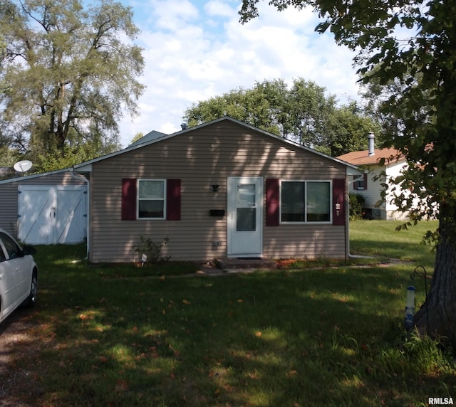
<instances>
[{"instance_id":1,"label":"pair of white double doors on the side shed","mask_svg":"<svg viewBox=\"0 0 456 407\"><path fill-rule=\"evenodd\" d=\"M86 186L19 186L18 238L29 244L86 238Z\"/></svg>"}]
</instances>

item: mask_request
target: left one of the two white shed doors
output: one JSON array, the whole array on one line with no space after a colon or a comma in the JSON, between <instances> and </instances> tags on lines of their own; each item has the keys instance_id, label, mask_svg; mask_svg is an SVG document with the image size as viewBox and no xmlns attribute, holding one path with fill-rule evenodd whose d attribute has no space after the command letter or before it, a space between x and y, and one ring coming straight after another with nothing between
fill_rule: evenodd
<instances>
[{"instance_id":1,"label":"left one of the two white shed doors","mask_svg":"<svg viewBox=\"0 0 456 407\"><path fill-rule=\"evenodd\" d=\"M19 186L19 240L30 244L51 244L56 217L52 186Z\"/></svg>"}]
</instances>

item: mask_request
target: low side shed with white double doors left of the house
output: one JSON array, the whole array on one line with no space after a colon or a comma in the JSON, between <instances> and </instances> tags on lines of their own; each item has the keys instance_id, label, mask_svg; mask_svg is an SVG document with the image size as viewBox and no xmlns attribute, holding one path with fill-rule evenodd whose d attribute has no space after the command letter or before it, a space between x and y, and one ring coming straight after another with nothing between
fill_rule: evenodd
<instances>
[{"instance_id":1,"label":"low side shed with white double doors left of the house","mask_svg":"<svg viewBox=\"0 0 456 407\"><path fill-rule=\"evenodd\" d=\"M30 244L79 243L87 232L87 184L73 169L0 181L0 228Z\"/></svg>"}]
</instances>

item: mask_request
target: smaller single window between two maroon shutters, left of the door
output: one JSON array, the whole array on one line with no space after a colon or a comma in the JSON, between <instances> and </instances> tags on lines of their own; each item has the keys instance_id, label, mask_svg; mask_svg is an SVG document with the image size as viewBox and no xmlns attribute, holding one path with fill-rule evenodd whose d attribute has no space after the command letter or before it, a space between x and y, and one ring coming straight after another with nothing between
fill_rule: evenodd
<instances>
[{"instance_id":1,"label":"smaller single window between two maroon shutters, left of the door","mask_svg":"<svg viewBox=\"0 0 456 407\"><path fill-rule=\"evenodd\" d=\"M138 180L138 218L165 219L164 179Z\"/></svg>"}]
</instances>

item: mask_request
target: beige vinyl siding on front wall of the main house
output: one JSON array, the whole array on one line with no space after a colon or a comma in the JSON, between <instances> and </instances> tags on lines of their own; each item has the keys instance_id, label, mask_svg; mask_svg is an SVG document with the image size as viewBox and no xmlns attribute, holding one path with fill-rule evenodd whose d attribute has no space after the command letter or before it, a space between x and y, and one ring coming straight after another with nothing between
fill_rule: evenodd
<instances>
[{"instance_id":1,"label":"beige vinyl siding on front wall of the main house","mask_svg":"<svg viewBox=\"0 0 456 407\"><path fill-rule=\"evenodd\" d=\"M90 260L130 262L140 236L160 241L173 260L209 260L227 253L227 178L345 178L345 166L233 122L178 134L93 163L90 179ZM122 221L123 178L181 179L180 221ZM215 194L211 185L218 184ZM264 191L266 192L266 191ZM264 203L264 218L266 206ZM264 255L345 256L345 227L281 225L263 229ZM214 245L219 242L219 245Z\"/></svg>"}]
</instances>

